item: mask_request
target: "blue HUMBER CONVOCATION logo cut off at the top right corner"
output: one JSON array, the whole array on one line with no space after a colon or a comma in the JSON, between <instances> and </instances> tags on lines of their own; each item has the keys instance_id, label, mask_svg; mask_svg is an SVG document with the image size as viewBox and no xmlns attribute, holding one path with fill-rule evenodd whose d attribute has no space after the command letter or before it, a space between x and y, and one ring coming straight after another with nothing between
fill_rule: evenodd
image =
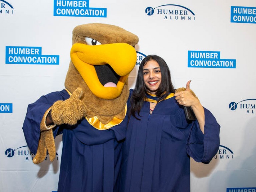
<instances>
[{"instance_id":1,"label":"blue HUMBER CONVOCATION logo cut off at the top right corner","mask_svg":"<svg viewBox=\"0 0 256 192\"><path fill-rule=\"evenodd\" d=\"M256 7L231 6L231 23L256 23Z\"/></svg>"}]
</instances>

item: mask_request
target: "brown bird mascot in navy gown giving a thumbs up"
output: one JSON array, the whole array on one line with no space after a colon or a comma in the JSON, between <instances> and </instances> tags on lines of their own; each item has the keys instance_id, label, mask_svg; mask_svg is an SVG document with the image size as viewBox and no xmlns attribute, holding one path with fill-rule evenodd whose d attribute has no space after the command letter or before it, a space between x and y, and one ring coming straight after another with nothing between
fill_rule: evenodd
<instances>
[{"instance_id":1,"label":"brown bird mascot in navy gown giving a thumbs up","mask_svg":"<svg viewBox=\"0 0 256 192\"><path fill-rule=\"evenodd\" d=\"M23 132L35 164L62 134L58 192L112 192L128 117L127 78L138 37L118 26L90 23L73 30L65 88L29 104Z\"/></svg>"}]
</instances>

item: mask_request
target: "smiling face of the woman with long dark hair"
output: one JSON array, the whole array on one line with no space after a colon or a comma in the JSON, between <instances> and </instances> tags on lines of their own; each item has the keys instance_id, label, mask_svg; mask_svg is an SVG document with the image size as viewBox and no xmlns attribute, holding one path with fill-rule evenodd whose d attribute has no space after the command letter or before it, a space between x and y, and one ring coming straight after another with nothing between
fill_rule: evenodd
<instances>
[{"instance_id":1,"label":"smiling face of the woman with long dark hair","mask_svg":"<svg viewBox=\"0 0 256 192\"><path fill-rule=\"evenodd\" d=\"M149 60L143 66L143 78L149 93L156 93L161 84L161 70L159 64L155 60Z\"/></svg>"}]
</instances>

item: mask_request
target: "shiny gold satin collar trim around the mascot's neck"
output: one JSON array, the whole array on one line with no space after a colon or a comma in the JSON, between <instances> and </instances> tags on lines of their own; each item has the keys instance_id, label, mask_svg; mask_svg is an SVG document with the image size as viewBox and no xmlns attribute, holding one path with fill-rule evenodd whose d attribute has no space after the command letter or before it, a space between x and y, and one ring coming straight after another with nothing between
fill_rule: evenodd
<instances>
[{"instance_id":1,"label":"shiny gold satin collar trim around the mascot's neck","mask_svg":"<svg viewBox=\"0 0 256 192\"><path fill-rule=\"evenodd\" d=\"M72 93L69 92L69 90L65 89L69 95L72 95ZM127 105L125 105L125 115L126 115L126 112L127 112ZM117 117L114 117L109 123L107 124L103 124L100 122L100 120L98 119L97 116L94 116L94 117L85 117L85 119L88 121L88 123L90 125L92 125L95 129L98 129L98 130L106 130L106 129L109 129L115 125L118 125L120 123L122 123L123 119L119 119Z\"/></svg>"}]
</instances>

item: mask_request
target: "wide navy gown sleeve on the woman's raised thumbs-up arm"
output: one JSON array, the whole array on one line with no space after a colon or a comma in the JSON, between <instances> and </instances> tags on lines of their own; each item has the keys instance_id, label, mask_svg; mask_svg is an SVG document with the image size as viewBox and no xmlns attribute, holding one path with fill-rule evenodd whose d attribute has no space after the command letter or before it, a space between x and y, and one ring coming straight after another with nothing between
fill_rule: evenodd
<instances>
[{"instance_id":1,"label":"wide navy gown sleeve on the woman's raised thumbs-up arm","mask_svg":"<svg viewBox=\"0 0 256 192\"><path fill-rule=\"evenodd\" d=\"M202 133L198 121L187 122L185 115L182 114L182 126L187 124L190 129L188 134L186 150L187 154L197 162L210 163L216 155L220 145L220 125L217 123L213 114L204 108L205 125L204 134Z\"/></svg>"}]
</instances>

